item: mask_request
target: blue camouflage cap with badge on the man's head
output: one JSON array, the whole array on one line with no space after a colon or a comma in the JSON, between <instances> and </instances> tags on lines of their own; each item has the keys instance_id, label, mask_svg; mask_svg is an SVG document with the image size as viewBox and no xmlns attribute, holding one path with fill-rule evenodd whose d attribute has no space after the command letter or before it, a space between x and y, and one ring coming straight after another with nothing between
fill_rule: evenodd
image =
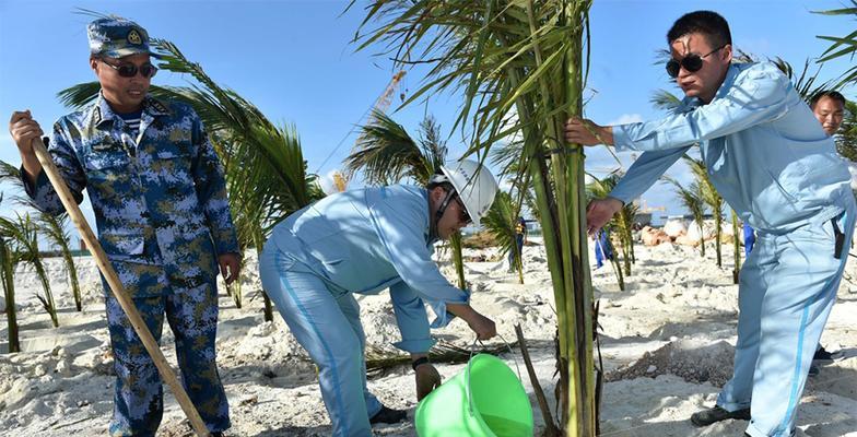
<instances>
[{"instance_id":1,"label":"blue camouflage cap with badge on the man's head","mask_svg":"<svg viewBox=\"0 0 857 437\"><path fill-rule=\"evenodd\" d=\"M110 15L86 25L90 39L90 54L108 58L122 58L129 55L157 55L149 48L149 33L139 24Z\"/></svg>"}]
</instances>

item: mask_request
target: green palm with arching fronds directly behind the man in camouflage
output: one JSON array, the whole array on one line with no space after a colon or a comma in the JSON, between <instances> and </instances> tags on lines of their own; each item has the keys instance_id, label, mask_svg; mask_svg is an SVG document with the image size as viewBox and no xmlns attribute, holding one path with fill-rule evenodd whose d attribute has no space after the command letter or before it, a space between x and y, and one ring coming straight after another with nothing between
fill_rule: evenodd
<instances>
[{"instance_id":1,"label":"green palm with arching fronds directly behind the man in camouflage","mask_svg":"<svg viewBox=\"0 0 857 437\"><path fill-rule=\"evenodd\" d=\"M202 118L224 162L238 243L243 250L260 249L277 223L324 197L316 178L306 173L296 133L290 128L275 127L251 103L218 85L173 43L153 39L152 44L161 56L159 68L190 74L196 84L152 86L150 92L155 97L186 102ZM61 91L59 97L66 105L81 107L95 99L98 90L97 82L84 83ZM235 296L239 299L240 293ZM272 320L272 306L265 291L262 297L265 318Z\"/></svg>"}]
</instances>

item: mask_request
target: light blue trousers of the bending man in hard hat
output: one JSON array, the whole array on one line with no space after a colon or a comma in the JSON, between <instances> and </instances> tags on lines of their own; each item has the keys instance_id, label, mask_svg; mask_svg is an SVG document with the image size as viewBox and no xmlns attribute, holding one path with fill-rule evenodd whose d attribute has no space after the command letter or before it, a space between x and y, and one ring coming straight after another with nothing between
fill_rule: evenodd
<instances>
[{"instance_id":1,"label":"light blue trousers of the bending man in hard hat","mask_svg":"<svg viewBox=\"0 0 857 437\"><path fill-rule=\"evenodd\" d=\"M333 436L372 436L380 402L366 388L366 338L351 293L333 292L268 243L259 257L262 287L290 331L318 366L318 383Z\"/></svg>"}]
</instances>

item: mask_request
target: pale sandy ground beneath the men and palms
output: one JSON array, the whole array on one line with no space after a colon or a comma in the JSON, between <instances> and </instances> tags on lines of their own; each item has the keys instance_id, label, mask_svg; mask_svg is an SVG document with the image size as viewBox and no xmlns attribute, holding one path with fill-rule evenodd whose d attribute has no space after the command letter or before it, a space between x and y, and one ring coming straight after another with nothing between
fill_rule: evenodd
<instances>
[{"instance_id":1,"label":"pale sandy ground beneath the men and palms","mask_svg":"<svg viewBox=\"0 0 857 437\"><path fill-rule=\"evenodd\" d=\"M609 382L604 386L601 435L739 436L744 422L727 421L694 428L689 416L713 405L719 386L731 374L737 320L737 286L731 282L730 246L724 246L724 268L713 247L698 251L670 244L636 248L633 275L621 292L608 265L592 272L601 300L601 352ZM853 249L853 251L857 251ZM468 250L467 277L473 285L473 306L497 322L506 340L520 323L530 343L541 385L553 392L555 318L553 292L542 246L525 248L525 283L506 273L505 259L494 250ZM591 258L594 259L594 258ZM857 261L852 258L852 261ZM102 436L111 413L113 367L101 286L94 263L78 260L85 307L74 310L64 272L58 260L48 269L60 308L59 328L51 328L35 298L40 290L28 268L16 275L19 323L24 352L0 354L0 435ZM317 388L315 369L303 349L277 315L263 322L256 260L244 271L244 308L237 309L221 288L218 353L221 376L230 398L233 436L325 436L329 421ZM451 277L453 269L443 264ZM399 339L385 294L360 298L369 345L395 351ZM799 408L798 435L857 436L857 263L850 262L838 302L822 343L842 350L846 359L821 369L811 378ZM8 339L5 316L0 316L0 340ZM175 363L172 334L165 329L163 351ZM454 321L434 332L438 339L467 346L473 335L466 323ZM502 343L500 340L497 343ZM5 343L0 350L5 350ZM519 355L502 358L514 368ZM523 366L523 364L521 364ZM462 365L438 365L445 379ZM525 376L526 378L526 376ZM524 382L533 406L537 434L543 421L529 380ZM376 426L380 436L413 436L416 405L413 374L408 366L369 380L369 389L386 404L409 409L407 424ZM549 397L551 397L549 394ZM189 428L172 394L165 398L160 436L189 436Z\"/></svg>"}]
</instances>

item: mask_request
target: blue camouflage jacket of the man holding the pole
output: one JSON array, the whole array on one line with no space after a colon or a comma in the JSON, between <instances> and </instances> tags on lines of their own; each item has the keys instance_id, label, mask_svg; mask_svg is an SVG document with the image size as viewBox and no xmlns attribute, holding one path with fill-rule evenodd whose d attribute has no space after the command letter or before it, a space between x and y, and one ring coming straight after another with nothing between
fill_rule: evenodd
<instances>
[{"instance_id":1,"label":"blue camouflage jacket of the man holding the pole","mask_svg":"<svg viewBox=\"0 0 857 437\"><path fill-rule=\"evenodd\" d=\"M54 125L48 151L78 203L86 188L98 240L114 265L163 264L185 277L216 275L214 255L239 249L223 168L202 122L188 105L151 96L140 118L132 138L99 96ZM43 211L63 211L44 172L35 186L25 185ZM128 287L133 277L127 276Z\"/></svg>"}]
</instances>

